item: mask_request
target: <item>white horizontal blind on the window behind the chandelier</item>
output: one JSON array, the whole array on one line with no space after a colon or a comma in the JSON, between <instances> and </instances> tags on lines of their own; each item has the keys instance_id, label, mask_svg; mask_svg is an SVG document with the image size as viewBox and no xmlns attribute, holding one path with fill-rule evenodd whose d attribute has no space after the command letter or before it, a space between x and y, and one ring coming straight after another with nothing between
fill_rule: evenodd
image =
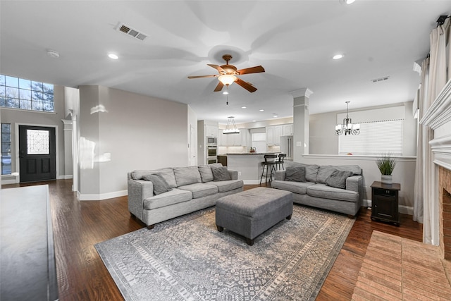
<instances>
[{"instance_id":1,"label":"white horizontal blind on the window behind the chandelier","mask_svg":"<svg viewBox=\"0 0 451 301\"><path fill-rule=\"evenodd\" d=\"M340 135L339 154L402 155L404 120L360 123L359 135Z\"/></svg>"}]
</instances>

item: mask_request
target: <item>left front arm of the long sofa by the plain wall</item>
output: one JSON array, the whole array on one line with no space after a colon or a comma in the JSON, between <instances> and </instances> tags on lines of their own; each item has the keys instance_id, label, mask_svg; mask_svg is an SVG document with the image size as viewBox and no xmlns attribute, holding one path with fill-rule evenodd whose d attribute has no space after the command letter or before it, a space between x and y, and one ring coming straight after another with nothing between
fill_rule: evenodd
<instances>
[{"instance_id":1,"label":"left front arm of the long sofa by the plain wall","mask_svg":"<svg viewBox=\"0 0 451 301\"><path fill-rule=\"evenodd\" d=\"M142 221L144 199L154 195L154 184L147 180L128 180L128 211Z\"/></svg>"}]
</instances>

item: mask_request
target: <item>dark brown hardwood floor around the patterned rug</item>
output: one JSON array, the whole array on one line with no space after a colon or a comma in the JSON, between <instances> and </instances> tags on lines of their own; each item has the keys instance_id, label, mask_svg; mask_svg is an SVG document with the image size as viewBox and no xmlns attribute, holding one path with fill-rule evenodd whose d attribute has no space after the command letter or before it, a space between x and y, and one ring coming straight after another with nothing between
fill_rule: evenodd
<instances>
[{"instance_id":1,"label":"dark brown hardwood floor around the patterned rug","mask_svg":"<svg viewBox=\"0 0 451 301\"><path fill-rule=\"evenodd\" d=\"M143 227L130 217L127 197L80 202L70 191L72 180L2 189L39 184L49 185L59 300L123 300L94 244ZM245 190L254 187L245 185ZM371 221L370 216L371 211L362 208L316 300L351 299L373 230L422 239L422 225L412 216L402 215L400 227Z\"/></svg>"}]
</instances>

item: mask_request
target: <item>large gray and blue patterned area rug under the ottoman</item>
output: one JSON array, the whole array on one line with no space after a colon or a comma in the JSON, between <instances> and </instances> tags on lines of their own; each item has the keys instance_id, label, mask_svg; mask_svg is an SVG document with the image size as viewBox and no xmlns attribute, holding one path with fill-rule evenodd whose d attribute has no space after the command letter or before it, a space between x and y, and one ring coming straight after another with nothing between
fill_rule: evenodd
<instances>
[{"instance_id":1,"label":"large gray and blue patterned area rug under the ottoman","mask_svg":"<svg viewBox=\"0 0 451 301\"><path fill-rule=\"evenodd\" d=\"M314 300L353 224L295 204L249 246L212 207L96 248L125 300Z\"/></svg>"}]
</instances>

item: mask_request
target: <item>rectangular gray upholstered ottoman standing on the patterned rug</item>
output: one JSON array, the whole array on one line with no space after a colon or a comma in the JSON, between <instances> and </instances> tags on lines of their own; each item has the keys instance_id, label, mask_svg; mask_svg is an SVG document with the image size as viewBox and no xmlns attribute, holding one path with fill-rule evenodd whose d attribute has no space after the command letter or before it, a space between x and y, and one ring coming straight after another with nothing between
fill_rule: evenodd
<instances>
[{"instance_id":1,"label":"rectangular gray upholstered ottoman standing on the patterned rug","mask_svg":"<svg viewBox=\"0 0 451 301\"><path fill-rule=\"evenodd\" d=\"M291 219L292 192L272 188L254 188L221 197L216 202L216 227L243 235L248 245L283 219Z\"/></svg>"}]
</instances>

